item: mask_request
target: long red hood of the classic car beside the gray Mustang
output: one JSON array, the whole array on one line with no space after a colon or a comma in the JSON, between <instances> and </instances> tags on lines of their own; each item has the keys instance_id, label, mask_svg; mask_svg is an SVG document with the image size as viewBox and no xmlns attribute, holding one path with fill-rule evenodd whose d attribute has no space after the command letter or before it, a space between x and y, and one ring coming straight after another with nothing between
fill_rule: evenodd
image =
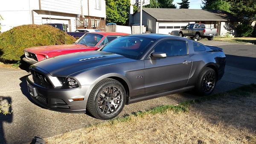
<instances>
[{"instance_id":1,"label":"long red hood of the classic car beside the gray Mustang","mask_svg":"<svg viewBox=\"0 0 256 144\"><path fill-rule=\"evenodd\" d=\"M58 55L64 55L64 54L73 53L73 52L92 51L96 49L99 49L99 48L92 47L92 46L85 46L83 44L69 44L69 45L37 46L37 47L27 48L24 50L33 54L52 58ZM38 61L41 61L41 58L38 58Z\"/></svg>"}]
</instances>

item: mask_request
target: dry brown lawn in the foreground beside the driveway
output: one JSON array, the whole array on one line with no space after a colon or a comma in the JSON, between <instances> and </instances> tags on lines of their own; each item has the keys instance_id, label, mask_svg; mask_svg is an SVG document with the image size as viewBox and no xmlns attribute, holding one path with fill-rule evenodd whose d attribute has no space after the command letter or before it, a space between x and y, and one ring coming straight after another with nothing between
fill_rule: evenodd
<instances>
[{"instance_id":1,"label":"dry brown lawn in the foreground beside the driveway","mask_svg":"<svg viewBox=\"0 0 256 144\"><path fill-rule=\"evenodd\" d=\"M192 104L189 112L131 116L47 138L48 144L256 144L256 93Z\"/></svg>"}]
</instances>

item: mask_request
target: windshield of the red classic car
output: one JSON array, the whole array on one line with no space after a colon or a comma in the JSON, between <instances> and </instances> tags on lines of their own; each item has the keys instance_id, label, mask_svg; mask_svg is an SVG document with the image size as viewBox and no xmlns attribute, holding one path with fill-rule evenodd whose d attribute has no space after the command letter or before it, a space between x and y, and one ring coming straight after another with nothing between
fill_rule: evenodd
<instances>
[{"instance_id":1,"label":"windshield of the red classic car","mask_svg":"<svg viewBox=\"0 0 256 144\"><path fill-rule=\"evenodd\" d=\"M86 46L96 46L102 37L103 35L99 34L85 34L84 37L81 37L77 43L84 44Z\"/></svg>"}]
</instances>

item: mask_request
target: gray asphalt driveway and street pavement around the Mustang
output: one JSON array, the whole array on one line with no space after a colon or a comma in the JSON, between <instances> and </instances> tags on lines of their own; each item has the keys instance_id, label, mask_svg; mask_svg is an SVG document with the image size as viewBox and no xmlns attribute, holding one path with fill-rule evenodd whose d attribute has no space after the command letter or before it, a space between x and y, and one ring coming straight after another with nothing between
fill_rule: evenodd
<instances>
[{"instance_id":1,"label":"gray asphalt driveway and street pavement around the Mustang","mask_svg":"<svg viewBox=\"0 0 256 144\"><path fill-rule=\"evenodd\" d=\"M227 54L225 75L215 92L224 92L244 84L256 83L256 45L201 40L201 43L219 46ZM246 49L246 50L245 50ZM0 67L0 100L12 104L11 115L0 115L0 143L29 143L34 136L42 138L62 134L102 122L86 114L69 114L43 109L33 104L26 86L28 72ZM120 116L150 109L163 104L178 104L197 98L180 93L126 105Z\"/></svg>"}]
</instances>

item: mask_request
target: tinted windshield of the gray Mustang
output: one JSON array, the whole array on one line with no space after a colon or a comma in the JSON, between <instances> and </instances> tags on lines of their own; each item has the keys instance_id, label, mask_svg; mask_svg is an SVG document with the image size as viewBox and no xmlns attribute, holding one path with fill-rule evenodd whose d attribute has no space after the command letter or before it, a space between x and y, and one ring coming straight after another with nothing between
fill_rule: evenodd
<instances>
[{"instance_id":1,"label":"tinted windshield of the gray Mustang","mask_svg":"<svg viewBox=\"0 0 256 144\"><path fill-rule=\"evenodd\" d=\"M154 43L153 39L143 37L119 37L108 43L101 50L139 60Z\"/></svg>"}]
</instances>

